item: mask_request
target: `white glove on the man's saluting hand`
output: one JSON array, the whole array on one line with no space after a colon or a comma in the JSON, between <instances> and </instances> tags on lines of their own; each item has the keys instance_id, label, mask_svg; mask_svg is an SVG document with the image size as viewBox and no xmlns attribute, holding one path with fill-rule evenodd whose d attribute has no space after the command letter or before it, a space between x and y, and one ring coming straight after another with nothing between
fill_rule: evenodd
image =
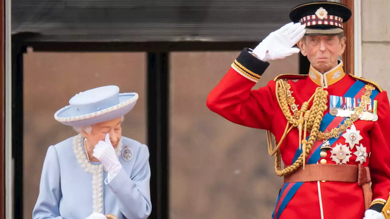
<instances>
[{"instance_id":1,"label":"white glove on the man's saluting hand","mask_svg":"<svg viewBox=\"0 0 390 219\"><path fill-rule=\"evenodd\" d=\"M253 53L263 62L268 60L282 59L299 53L299 48L293 47L305 35L305 25L300 23L288 23L269 34L256 48Z\"/></svg>"}]
</instances>

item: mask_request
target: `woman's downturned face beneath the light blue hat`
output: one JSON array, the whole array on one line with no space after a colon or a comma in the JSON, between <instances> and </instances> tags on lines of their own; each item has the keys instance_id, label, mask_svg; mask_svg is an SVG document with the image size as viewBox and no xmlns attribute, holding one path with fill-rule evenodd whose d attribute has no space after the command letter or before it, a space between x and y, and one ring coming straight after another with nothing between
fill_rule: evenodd
<instances>
[{"instance_id":1,"label":"woman's downturned face beneath the light blue hat","mask_svg":"<svg viewBox=\"0 0 390 219\"><path fill-rule=\"evenodd\" d=\"M105 141L107 133L110 135L110 141L114 148L119 145L122 136L122 119L116 118L107 122L101 122L92 125L91 133L83 132L83 136L88 139L92 145L97 145L99 141Z\"/></svg>"}]
</instances>

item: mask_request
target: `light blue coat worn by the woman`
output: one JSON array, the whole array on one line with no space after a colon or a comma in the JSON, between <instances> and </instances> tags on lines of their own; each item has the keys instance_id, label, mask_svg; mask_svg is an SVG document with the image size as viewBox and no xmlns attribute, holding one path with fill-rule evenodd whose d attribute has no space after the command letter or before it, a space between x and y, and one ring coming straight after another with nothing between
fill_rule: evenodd
<instances>
[{"instance_id":1,"label":"light blue coat worn by the woman","mask_svg":"<svg viewBox=\"0 0 390 219\"><path fill-rule=\"evenodd\" d=\"M81 135L74 136L48 148L32 218L85 219L94 211L94 198L97 203L95 205L102 208L103 212L99 213L114 214L118 219L148 217L151 213L151 200L147 146L122 137L122 145L116 149L122 169L115 177L108 179L108 174L102 171L101 165L103 174L95 173L95 177L81 166L85 163L86 156L80 139L82 140ZM125 145L129 145L133 152L130 161L122 158ZM93 164L98 165L100 162ZM88 165L96 169L98 167ZM95 195L92 189L93 178L98 185L94 184Z\"/></svg>"}]
</instances>

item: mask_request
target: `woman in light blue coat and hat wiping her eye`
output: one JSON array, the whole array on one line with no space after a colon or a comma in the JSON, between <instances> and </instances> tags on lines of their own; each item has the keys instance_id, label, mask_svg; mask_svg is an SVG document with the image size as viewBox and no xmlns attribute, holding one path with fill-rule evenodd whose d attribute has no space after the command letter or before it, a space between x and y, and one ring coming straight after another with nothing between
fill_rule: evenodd
<instances>
[{"instance_id":1,"label":"woman in light blue coat and hat wiping her eye","mask_svg":"<svg viewBox=\"0 0 390 219\"><path fill-rule=\"evenodd\" d=\"M57 121L80 132L48 148L33 219L145 219L151 213L149 150L122 137L138 99L105 86L76 94Z\"/></svg>"}]
</instances>

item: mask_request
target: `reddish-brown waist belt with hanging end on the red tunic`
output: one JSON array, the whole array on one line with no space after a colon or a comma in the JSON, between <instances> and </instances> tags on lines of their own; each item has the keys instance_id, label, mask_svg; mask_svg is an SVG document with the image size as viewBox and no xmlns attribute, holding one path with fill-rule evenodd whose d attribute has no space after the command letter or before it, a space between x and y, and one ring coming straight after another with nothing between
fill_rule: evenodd
<instances>
[{"instance_id":1,"label":"reddish-brown waist belt with hanging end on the red tunic","mask_svg":"<svg viewBox=\"0 0 390 219\"><path fill-rule=\"evenodd\" d=\"M284 177L284 182L357 182L363 188L364 206L367 210L372 201L370 187L371 175L368 167L361 164L340 165L340 164L308 164L305 170L299 170Z\"/></svg>"}]
</instances>

